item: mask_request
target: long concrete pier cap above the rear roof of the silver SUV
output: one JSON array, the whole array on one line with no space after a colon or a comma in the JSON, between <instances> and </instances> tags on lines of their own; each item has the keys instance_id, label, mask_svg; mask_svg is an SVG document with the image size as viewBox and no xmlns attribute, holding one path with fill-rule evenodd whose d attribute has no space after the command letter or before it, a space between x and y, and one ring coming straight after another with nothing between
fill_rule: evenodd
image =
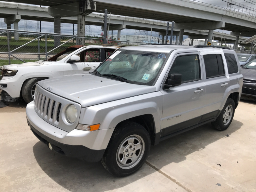
<instances>
[{"instance_id":1,"label":"long concrete pier cap above the rear roof of the silver SUV","mask_svg":"<svg viewBox=\"0 0 256 192\"><path fill-rule=\"evenodd\" d=\"M225 27L225 22L199 22L199 23L174 23L180 29L220 29Z\"/></svg>"}]
</instances>

